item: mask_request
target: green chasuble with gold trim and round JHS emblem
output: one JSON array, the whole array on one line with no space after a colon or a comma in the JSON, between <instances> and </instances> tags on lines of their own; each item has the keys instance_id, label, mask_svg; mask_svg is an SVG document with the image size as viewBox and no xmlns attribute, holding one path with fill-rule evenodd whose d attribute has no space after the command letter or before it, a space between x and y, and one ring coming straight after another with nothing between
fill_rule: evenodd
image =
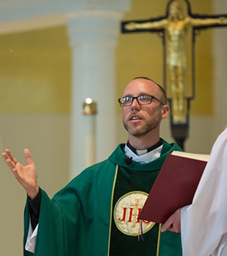
<instances>
[{"instance_id":1,"label":"green chasuble with gold trim and round JHS emblem","mask_svg":"<svg viewBox=\"0 0 227 256\"><path fill-rule=\"evenodd\" d=\"M128 166L124 147L85 169L52 200L42 190L36 256L182 255L180 234L137 220L167 154L181 148L163 141L157 160ZM29 223L26 204L24 245Z\"/></svg>"}]
</instances>

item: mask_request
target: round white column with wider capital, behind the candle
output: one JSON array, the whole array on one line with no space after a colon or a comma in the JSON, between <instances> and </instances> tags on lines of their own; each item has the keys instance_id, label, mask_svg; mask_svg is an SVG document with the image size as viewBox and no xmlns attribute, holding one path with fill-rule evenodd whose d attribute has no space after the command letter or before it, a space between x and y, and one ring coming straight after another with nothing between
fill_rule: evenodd
<instances>
[{"instance_id":1,"label":"round white column with wider capital, behind the candle","mask_svg":"<svg viewBox=\"0 0 227 256\"><path fill-rule=\"evenodd\" d=\"M72 46L71 177L87 166L106 159L117 146L117 95L115 93L115 46L120 33L120 11L87 10L67 15ZM97 114L83 115L86 98L97 103ZM95 140L89 140L86 123L95 124ZM91 147L89 147L89 144Z\"/></svg>"}]
</instances>

